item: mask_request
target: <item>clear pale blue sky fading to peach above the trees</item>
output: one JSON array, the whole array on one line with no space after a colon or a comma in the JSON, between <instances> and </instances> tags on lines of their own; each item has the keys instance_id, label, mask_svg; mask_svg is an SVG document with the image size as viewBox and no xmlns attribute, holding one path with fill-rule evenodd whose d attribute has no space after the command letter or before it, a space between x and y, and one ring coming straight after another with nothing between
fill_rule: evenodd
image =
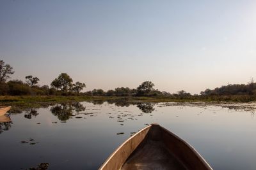
<instances>
[{"instance_id":1,"label":"clear pale blue sky fading to peach above the trees","mask_svg":"<svg viewBox=\"0 0 256 170\"><path fill-rule=\"evenodd\" d=\"M12 79L199 94L256 78L256 1L0 1Z\"/></svg>"}]
</instances>

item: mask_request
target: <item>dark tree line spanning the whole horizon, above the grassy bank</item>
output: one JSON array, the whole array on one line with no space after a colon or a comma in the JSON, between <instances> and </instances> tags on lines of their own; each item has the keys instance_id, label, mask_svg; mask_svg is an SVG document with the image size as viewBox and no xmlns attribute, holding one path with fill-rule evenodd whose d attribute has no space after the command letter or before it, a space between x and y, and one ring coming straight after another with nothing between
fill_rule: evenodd
<instances>
[{"instance_id":1,"label":"dark tree line spanning the whole horizon, above the grassy bank","mask_svg":"<svg viewBox=\"0 0 256 170\"><path fill-rule=\"evenodd\" d=\"M114 90L104 91L102 89L93 89L87 92L81 92L86 88L85 83L76 81L73 82L72 78L67 73L61 73L57 78L52 80L51 86L38 85L40 79L36 76L25 76L26 82L22 80L10 80L11 75L14 74L13 67L0 60L0 95L10 96L23 96L23 95L52 95L52 96L166 96L173 98L186 98L192 99L198 96L252 96L256 95L256 83L253 78L246 85L234 84L217 87L215 89L206 89L200 92L200 95L191 95L189 92L180 90L175 94L169 92L159 91L154 89L154 83L151 81L144 81L136 89L129 87L117 87Z\"/></svg>"}]
</instances>

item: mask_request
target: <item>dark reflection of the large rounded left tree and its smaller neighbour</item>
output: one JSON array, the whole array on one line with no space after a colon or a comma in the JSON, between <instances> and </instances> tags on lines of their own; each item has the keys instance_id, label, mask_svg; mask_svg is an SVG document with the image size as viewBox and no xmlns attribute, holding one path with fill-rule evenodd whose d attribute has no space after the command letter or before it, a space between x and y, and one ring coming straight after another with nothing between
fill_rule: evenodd
<instances>
[{"instance_id":1,"label":"dark reflection of the large rounded left tree and its smaller neighbour","mask_svg":"<svg viewBox=\"0 0 256 170\"><path fill-rule=\"evenodd\" d=\"M56 104L56 106L52 106L50 110L51 113L58 117L58 119L61 120L62 123L65 123L70 117L73 116L73 110L78 113L80 111L84 111L85 107L79 102L62 103Z\"/></svg>"}]
</instances>

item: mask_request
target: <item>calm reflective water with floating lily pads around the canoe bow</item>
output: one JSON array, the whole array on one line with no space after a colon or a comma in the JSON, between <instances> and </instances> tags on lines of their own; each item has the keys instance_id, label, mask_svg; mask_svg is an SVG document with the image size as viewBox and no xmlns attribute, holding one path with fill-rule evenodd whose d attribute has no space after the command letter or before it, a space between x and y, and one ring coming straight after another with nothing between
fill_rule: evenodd
<instances>
[{"instance_id":1,"label":"calm reflective water with floating lily pads around the canoe bow","mask_svg":"<svg viewBox=\"0 0 256 170\"><path fill-rule=\"evenodd\" d=\"M12 122L0 123L0 169L41 162L49 169L97 169L153 122L188 141L213 169L256 169L254 110L256 103L83 102L12 111Z\"/></svg>"}]
</instances>

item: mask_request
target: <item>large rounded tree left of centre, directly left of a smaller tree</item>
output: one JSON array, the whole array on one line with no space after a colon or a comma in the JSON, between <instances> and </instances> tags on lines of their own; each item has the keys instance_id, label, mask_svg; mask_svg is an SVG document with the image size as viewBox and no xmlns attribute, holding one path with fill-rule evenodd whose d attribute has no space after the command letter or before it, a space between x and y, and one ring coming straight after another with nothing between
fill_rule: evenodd
<instances>
[{"instance_id":1,"label":"large rounded tree left of centre, directly left of a smaller tree","mask_svg":"<svg viewBox=\"0 0 256 170\"><path fill-rule=\"evenodd\" d=\"M58 78L55 78L51 87L55 87L56 89L60 89L62 92L67 92L67 90L72 88L72 78L68 76L67 73L61 73Z\"/></svg>"}]
</instances>

